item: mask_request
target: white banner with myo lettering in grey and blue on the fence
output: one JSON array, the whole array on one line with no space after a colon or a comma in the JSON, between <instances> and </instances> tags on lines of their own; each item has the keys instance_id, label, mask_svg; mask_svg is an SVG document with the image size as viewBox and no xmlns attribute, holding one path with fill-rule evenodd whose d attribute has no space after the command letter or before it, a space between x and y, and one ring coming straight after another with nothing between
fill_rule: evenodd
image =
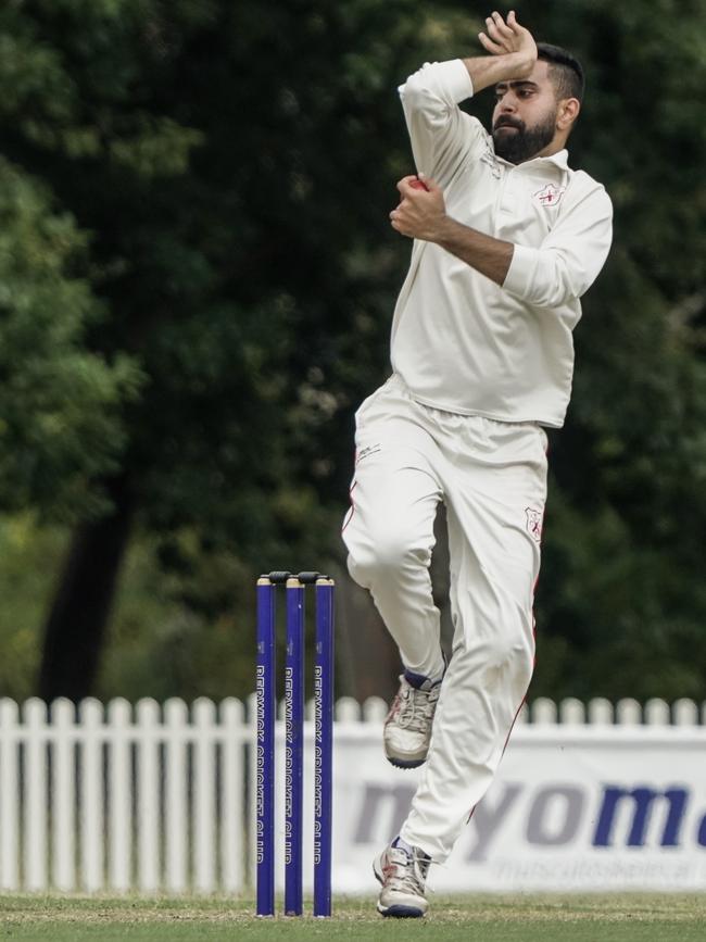
<instances>
[{"instance_id":1,"label":"white banner with myo lettering in grey and blue on the fence","mask_svg":"<svg viewBox=\"0 0 706 942\"><path fill-rule=\"evenodd\" d=\"M370 859L399 832L418 775L379 736L337 738L341 891L370 892ZM438 892L702 890L703 729L520 727L497 778L429 886Z\"/></svg>"}]
</instances>

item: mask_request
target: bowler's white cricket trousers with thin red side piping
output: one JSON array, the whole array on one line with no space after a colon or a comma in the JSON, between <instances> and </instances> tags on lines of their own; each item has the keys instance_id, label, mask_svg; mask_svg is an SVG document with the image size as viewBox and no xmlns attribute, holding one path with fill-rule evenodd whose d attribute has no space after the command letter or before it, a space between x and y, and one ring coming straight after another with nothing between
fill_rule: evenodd
<instances>
[{"instance_id":1,"label":"bowler's white cricket trousers with thin red side piping","mask_svg":"<svg viewBox=\"0 0 706 942\"><path fill-rule=\"evenodd\" d=\"M442 863L492 781L532 675L546 435L534 423L421 405L395 375L365 400L356 426L349 570L405 668L428 677L443 671L429 564L437 506L446 506L452 657L401 831Z\"/></svg>"}]
</instances>

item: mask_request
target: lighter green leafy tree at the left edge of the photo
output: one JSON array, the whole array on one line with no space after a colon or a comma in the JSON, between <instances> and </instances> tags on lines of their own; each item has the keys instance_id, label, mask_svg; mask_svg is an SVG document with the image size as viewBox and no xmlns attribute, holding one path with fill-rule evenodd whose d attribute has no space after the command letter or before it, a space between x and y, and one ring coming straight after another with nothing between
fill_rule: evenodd
<instances>
[{"instance_id":1,"label":"lighter green leafy tree at the left edge of the photo","mask_svg":"<svg viewBox=\"0 0 706 942\"><path fill-rule=\"evenodd\" d=\"M51 519L105 508L123 403L138 374L85 347L104 311L80 268L86 238L45 188L0 159L0 507Z\"/></svg>"}]
</instances>

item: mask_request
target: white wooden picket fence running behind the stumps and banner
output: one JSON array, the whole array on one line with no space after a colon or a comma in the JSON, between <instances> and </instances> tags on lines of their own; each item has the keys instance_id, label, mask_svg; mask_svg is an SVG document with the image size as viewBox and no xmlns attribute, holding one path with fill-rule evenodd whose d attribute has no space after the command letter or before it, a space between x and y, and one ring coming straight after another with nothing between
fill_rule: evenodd
<instances>
[{"instance_id":1,"label":"white wooden picket fence running behind the stumps and banner","mask_svg":"<svg viewBox=\"0 0 706 942\"><path fill-rule=\"evenodd\" d=\"M0 890L249 887L253 705L0 700ZM379 699L342 699L337 734L368 732L386 712ZM694 727L706 704L537 700L528 724Z\"/></svg>"}]
</instances>

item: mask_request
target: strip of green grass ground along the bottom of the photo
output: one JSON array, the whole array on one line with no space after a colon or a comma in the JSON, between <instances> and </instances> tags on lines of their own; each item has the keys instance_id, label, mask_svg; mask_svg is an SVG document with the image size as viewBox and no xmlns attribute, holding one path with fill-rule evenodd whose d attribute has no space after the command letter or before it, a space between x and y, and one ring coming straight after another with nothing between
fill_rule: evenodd
<instances>
[{"instance_id":1,"label":"strip of green grass ground along the bottom of the photo","mask_svg":"<svg viewBox=\"0 0 706 942\"><path fill-rule=\"evenodd\" d=\"M257 919L232 899L0 896L0 940L211 942L351 939L464 942L702 942L706 894L432 896L426 919L382 919L337 900L332 919Z\"/></svg>"}]
</instances>

